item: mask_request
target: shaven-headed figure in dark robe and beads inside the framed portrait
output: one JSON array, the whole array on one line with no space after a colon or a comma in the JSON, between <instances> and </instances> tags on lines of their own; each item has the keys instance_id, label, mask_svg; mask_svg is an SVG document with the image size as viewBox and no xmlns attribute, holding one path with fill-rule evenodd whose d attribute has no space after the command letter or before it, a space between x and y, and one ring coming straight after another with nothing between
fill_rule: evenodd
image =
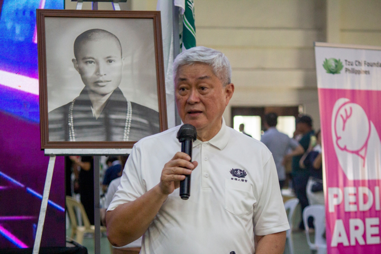
<instances>
[{"instance_id":1,"label":"shaven-headed figure in dark robe and beads inside the framed portrait","mask_svg":"<svg viewBox=\"0 0 381 254\"><path fill-rule=\"evenodd\" d=\"M74 56L84 88L49 112L49 141L138 141L160 132L159 113L127 100L119 88L123 56L115 35L84 31L74 42Z\"/></svg>"}]
</instances>

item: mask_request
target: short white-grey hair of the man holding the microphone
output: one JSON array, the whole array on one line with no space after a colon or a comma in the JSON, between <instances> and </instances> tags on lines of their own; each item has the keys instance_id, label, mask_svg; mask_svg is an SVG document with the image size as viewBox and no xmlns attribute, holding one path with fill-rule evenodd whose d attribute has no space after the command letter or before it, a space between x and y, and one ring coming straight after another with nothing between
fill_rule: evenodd
<instances>
[{"instance_id":1,"label":"short white-grey hair of the man holding the microphone","mask_svg":"<svg viewBox=\"0 0 381 254\"><path fill-rule=\"evenodd\" d=\"M184 65L206 63L212 68L213 74L224 86L231 83L232 68L226 55L218 50L198 46L187 49L176 56L173 62L173 79L176 80L177 70Z\"/></svg>"}]
</instances>

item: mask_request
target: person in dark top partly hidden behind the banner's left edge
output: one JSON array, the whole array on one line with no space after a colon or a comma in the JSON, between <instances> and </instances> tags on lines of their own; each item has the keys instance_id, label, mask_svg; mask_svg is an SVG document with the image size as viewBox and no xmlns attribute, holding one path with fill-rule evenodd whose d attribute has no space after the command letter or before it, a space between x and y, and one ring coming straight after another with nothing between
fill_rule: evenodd
<instances>
[{"instance_id":1,"label":"person in dark top partly hidden behind the banner's left edge","mask_svg":"<svg viewBox=\"0 0 381 254\"><path fill-rule=\"evenodd\" d=\"M310 172L306 187L310 205L324 205L321 137L321 131L316 132L316 140L311 137L310 146L300 160L300 167L307 168Z\"/></svg>"}]
</instances>

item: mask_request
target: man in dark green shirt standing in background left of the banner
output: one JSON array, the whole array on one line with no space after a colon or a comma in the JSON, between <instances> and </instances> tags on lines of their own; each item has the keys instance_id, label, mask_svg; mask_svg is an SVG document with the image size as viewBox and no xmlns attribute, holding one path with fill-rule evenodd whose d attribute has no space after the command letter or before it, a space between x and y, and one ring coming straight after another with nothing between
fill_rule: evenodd
<instances>
[{"instance_id":1,"label":"man in dark green shirt standing in background left of the banner","mask_svg":"<svg viewBox=\"0 0 381 254\"><path fill-rule=\"evenodd\" d=\"M300 139L299 144L304 148L304 151L307 151L311 136L314 135L314 131L312 130L312 119L308 115L303 115L296 120L296 130L300 132L303 137ZM295 194L299 199L299 203L303 210L306 206L308 206L308 199L306 194L306 187L309 178L309 171L307 169L303 169L299 165L299 161L302 158L302 154L294 156L292 160L292 176L293 176L293 188L295 190ZM304 229L303 220L299 225L300 229Z\"/></svg>"}]
</instances>

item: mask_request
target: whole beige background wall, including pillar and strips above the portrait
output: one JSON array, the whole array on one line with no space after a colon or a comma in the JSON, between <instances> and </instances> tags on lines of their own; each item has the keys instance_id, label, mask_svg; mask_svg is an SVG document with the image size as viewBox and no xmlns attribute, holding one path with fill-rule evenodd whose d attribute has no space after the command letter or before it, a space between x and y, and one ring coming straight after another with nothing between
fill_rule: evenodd
<instances>
[{"instance_id":1,"label":"whole beige background wall, including pillar and strips above the portrait","mask_svg":"<svg viewBox=\"0 0 381 254\"><path fill-rule=\"evenodd\" d=\"M131 10L155 10L157 3L128 1ZM381 46L381 1L195 0L195 13L197 45L231 61L236 90L227 123L232 106L303 105L319 129L313 42Z\"/></svg>"}]
</instances>

